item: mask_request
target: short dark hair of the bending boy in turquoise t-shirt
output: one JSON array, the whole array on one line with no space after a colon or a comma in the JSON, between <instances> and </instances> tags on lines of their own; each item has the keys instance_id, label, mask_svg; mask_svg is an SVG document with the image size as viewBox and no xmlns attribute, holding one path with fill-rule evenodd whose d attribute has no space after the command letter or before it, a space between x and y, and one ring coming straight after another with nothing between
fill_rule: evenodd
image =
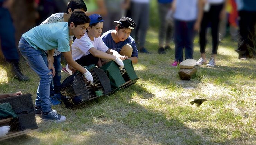
<instances>
[{"instance_id":1,"label":"short dark hair of the bending boy in turquoise t-shirt","mask_svg":"<svg viewBox=\"0 0 256 145\"><path fill-rule=\"evenodd\" d=\"M68 26L70 26L72 22L76 27L77 25L90 23L90 18L86 16L86 14L82 11L75 11L71 14L70 18L68 19Z\"/></svg>"}]
</instances>

